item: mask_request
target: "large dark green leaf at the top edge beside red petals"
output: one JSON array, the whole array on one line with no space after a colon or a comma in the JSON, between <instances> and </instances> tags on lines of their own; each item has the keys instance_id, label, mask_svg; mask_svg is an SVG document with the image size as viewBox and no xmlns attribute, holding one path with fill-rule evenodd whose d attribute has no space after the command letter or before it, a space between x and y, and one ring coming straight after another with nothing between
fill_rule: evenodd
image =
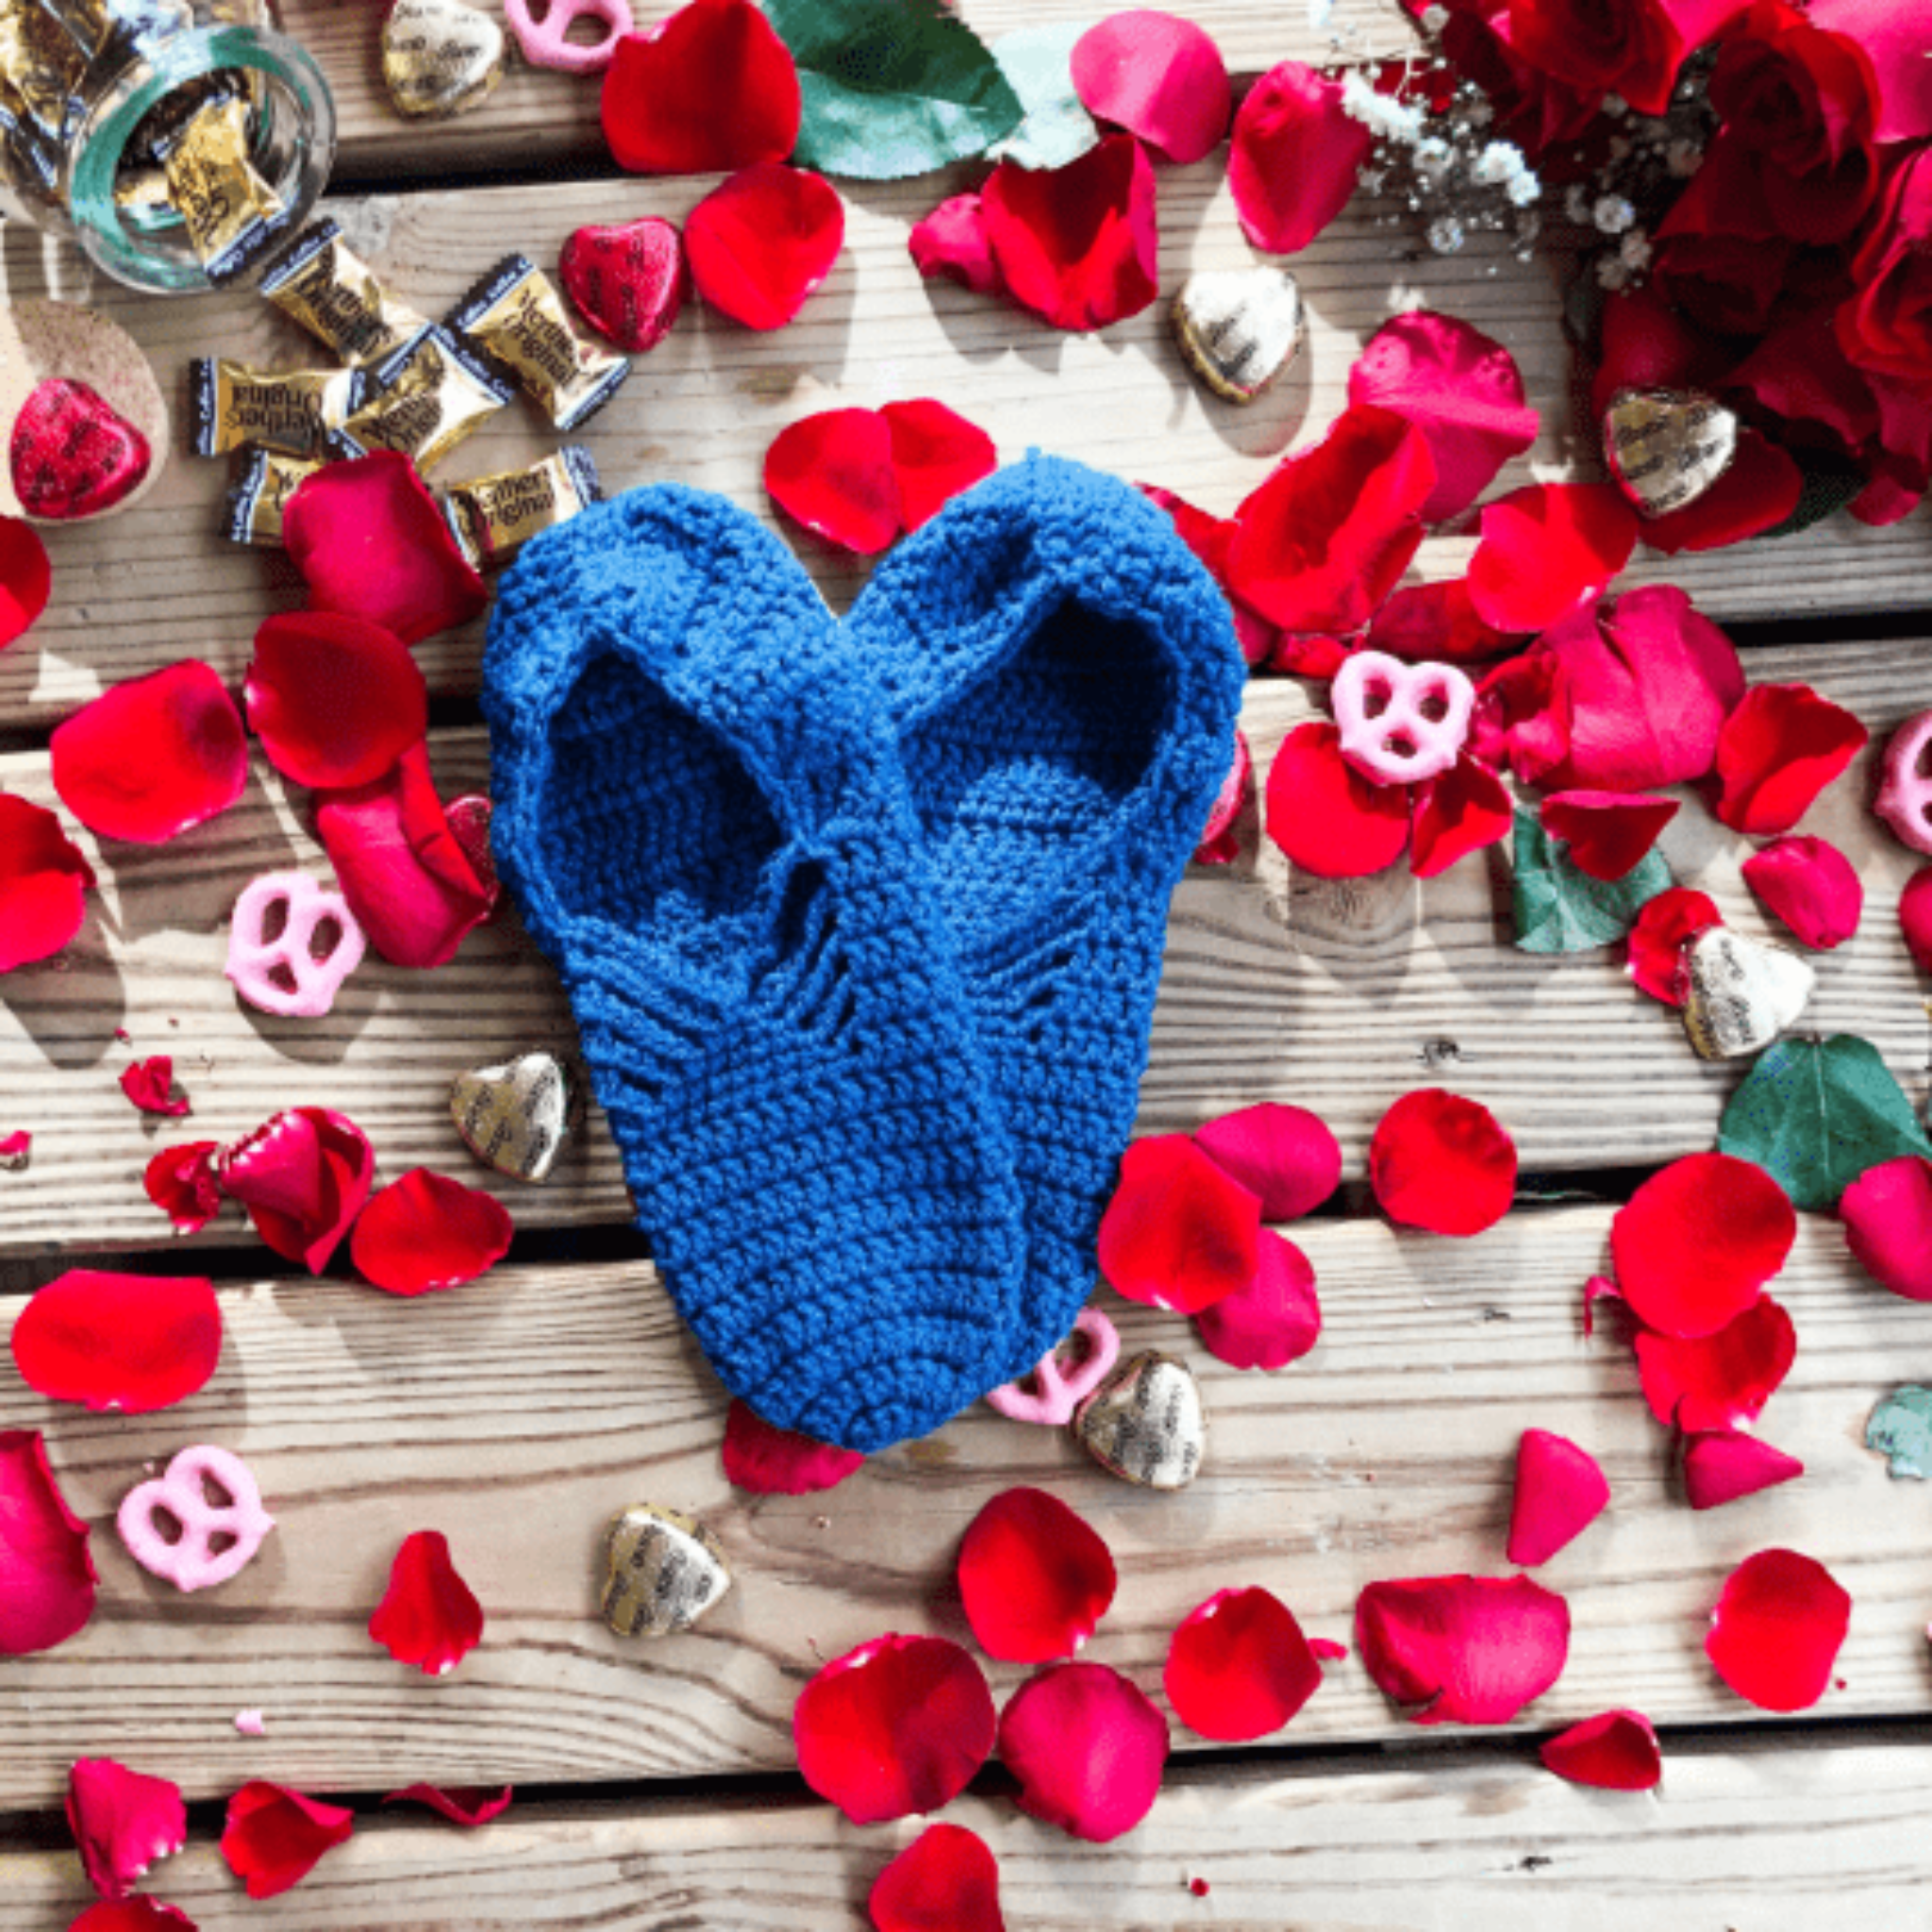
<instances>
[{"instance_id":1,"label":"large dark green leaf at the top edge beside red petals","mask_svg":"<svg viewBox=\"0 0 1932 1932\"><path fill-rule=\"evenodd\" d=\"M765 0L765 14L798 62L802 168L902 182L1020 124L999 62L935 0Z\"/></svg>"}]
</instances>

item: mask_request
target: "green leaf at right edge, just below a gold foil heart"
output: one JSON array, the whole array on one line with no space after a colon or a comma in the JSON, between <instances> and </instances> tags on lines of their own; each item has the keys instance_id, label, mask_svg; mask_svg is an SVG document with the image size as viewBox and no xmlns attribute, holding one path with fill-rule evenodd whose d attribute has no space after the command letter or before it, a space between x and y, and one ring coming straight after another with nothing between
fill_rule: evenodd
<instances>
[{"instance_id":1,"label":"green leaf at right edge, just below a gold foil heart","mask_svg":"<svg viewBox=\"0 0 1932 1932\"><path fill-rule=\"evenodd\" d=\"M1913 1103L1878 1047L1853 1034L1779 1039L1731 1095L1718 1148L1756 1161L1797 1208L1830 1213L1880 1161L1932 1155Z\"/></svg>"}]
</instances>

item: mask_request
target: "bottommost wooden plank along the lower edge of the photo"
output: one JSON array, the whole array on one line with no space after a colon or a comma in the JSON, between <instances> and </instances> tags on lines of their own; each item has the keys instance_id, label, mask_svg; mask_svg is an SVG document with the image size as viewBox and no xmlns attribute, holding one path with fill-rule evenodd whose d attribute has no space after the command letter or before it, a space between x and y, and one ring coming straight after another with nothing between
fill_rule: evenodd
<instances>
[{"instance_id":1,"label":"bottommost wooden plank along the lower edge of the photo","mask_svg":"<svg viewBox=\"0 0 1932 1932\"><path fill-rule=\"evenodd\" d=\"M1897 1739L1673 1752L1658 1797L1580 1791L1493 1754L1179 1770L1115 1845L1061 1837L999 1799L945 1818L991 1845L1005 1918L1028 1932L1604 1932L1646 1915L1830 1932L1920 1920L1928 1801L1924 1747ZM473 1835L396 1814L359 1824L267 1911L284 1932L850 1932L873 1876L922 1828L858 1830L804 1803L531 1806ZM263 1924L205 1841L149 1884L203 1932ZM71 1853L0 1853L8 1932L64 1932L85 1903Z\"/></svg>"}]
</instances>

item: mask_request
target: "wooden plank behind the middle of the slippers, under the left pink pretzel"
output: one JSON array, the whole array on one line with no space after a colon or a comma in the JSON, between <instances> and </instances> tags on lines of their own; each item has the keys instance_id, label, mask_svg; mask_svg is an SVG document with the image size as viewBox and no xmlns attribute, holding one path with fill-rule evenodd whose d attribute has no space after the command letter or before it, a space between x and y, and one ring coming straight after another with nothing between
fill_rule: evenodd
<instances>
[{"instance_id":1,"label":"wooden plank behind the middle of the slippers, under the left pink pretzel","mask_svg":"<svg viewBox=\"0 0 1932 1932\"><path fill-rule=\"evenodd\" d=\"M1758 678L1812 678L1876 732L1932 703L1932 670L1909 643L1752 653ZM1265 771L1306 715L1287 680L1248 690L1246 726ZM485 782L479 732L442 732L446 796ZM1841 846L1866 887L1862 931L1818 958L1810 1024L1870 1037L1907 1092L1924 1097L1926 1012L1897 933L1913 854L1866 813L1870 755L1812 810L1806 827ZM0 784L52 804L41 752L0 759ZM1198 1126L1254 1099L1318 1109L1362 1173L1368 1136L1397 1094L1447 1084L1493 1107L1528 1173L1648 1165L1708 1146L1737 1070L1689 1051L1677 1018L1631 991L1615 949L1540 958L1509 945L1507 862L1478 854L1418 887L1397 869L1331 885L1291 879L1248 831L1248 856L1196 869L1169 923L1142 1130ZM1665 833L1679 877L1710 891L1733 923L1774 937L1739 877L1748 846L1692 802ZM95 1244L153 1244L166 1225L141 1194L162 1144L232 1140L276 1107L348 1111L384 1173L469 1163L444 1099L466 1066L524 1047L572 1043L551 968L512 923L477 933L458 960L419 976L369 960L323 1022L270 1020L222 978L226 918L261 871L327 875L272 773L242 806L158 848L97 854L97 912L56 960L0 981L0 1124L41 1138L33 1169L0 1175L0 1250L48 1250L85 1227ZM122 1028L129 1037L116 1037ZM133 1055L176 1053L195 1113L137 1117L118 1076ZM628 1219L603 1128L545 1188L504 1184L529 1227ZM211 1240L234 1240L224 1217Z\"/></svg>"}]
</instances>

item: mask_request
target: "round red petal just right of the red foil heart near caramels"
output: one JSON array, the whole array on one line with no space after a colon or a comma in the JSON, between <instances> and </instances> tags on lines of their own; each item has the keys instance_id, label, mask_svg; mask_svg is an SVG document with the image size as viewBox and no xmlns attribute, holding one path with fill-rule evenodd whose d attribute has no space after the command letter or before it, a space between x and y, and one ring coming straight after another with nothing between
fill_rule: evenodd
<instances>
[{"instance_id":1,"label":"round red petal just right of the red foil heart near caramels","mask_svg":"<svg viewBox=\"0 0 1932 1932\"><path fill-rule=\"evenodd\" d=\"M684 224L692 282L746 328L782 328L844 247L838 189L810 168L759 160L713 187Z\"/></svg>"}]
</instances>

